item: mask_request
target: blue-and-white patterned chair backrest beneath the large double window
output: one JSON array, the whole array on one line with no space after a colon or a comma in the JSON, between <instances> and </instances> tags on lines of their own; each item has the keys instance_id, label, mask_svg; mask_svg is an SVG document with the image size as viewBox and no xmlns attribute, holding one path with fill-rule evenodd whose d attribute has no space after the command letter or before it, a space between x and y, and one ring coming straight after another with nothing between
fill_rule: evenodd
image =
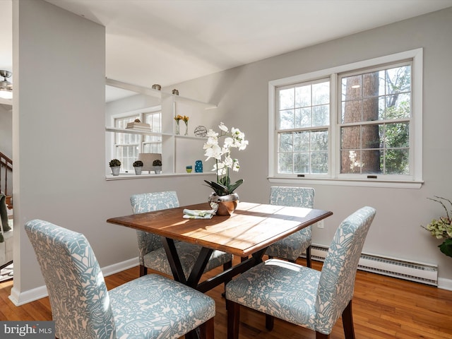
<instances>
[{"instance_id":1,"label":"blue-and-white patterned chair backrest beneath the large double window","mask_svg":"<svg viewBox=\"0 0 452 339\"><path fill-rule=\"evenodd\" d=\"M271 186L270 204L314 208L314 194L315 191L311 187Z\"/></svg>"}]
</instances>

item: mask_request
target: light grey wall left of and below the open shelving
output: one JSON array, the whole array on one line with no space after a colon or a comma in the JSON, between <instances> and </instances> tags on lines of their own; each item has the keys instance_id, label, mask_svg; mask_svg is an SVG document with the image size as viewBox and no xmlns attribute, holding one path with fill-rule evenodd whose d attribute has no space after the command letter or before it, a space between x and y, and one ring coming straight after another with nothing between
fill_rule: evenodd
<instances>
[{"instance_id":1,"label":"light grey wall left of and below the open shelving","mask_svg":"<svg viewBox=\"0 0 452 339\"><path fill-rule=\"evenodd\" d=\"M132 212L131 194L176 190L189 204L206 201L210 191L203 176L107 182L105 28L38 0L13 2L13 26L14 237L20 251L11 299L20 304L44 285L23 231L28 220L82 232L105 267L138 256L135 231L105 222Z\"/></svg>"}]
</instances>

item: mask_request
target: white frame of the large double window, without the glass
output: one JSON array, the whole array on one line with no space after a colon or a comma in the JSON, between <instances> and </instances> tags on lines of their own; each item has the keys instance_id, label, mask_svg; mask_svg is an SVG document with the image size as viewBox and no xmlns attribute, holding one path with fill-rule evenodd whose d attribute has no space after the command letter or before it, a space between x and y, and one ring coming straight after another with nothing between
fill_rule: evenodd
<instances>
[{"instance_id":1,"label":"white frame of the large double window, without the glass","mask_svg":"<svg viewBox=\"0 0 452 339\"><path fill-rule=\"evenodd\" d=\"M376 178L349 177L339 174L338 154L340 148L340 135L338 126L338 74L367 69L382 64L395 64L400 61L412 60L412 120L410 122L410 169L411 175L407 177L390 177L377 175ZM423 49L412 49L410 51L377 57L352 64L314 71L289 78L281 78L268 83L268 180L275 184L321 184L340 186L371 186L371 187L397 187L420 189L422 186L422 69ZM320 78L330 78L331 90L331 126L328 130L328 168L325 174L278 174L278 88L290 84L314 81Z\"/></svg>"}]
</instances>

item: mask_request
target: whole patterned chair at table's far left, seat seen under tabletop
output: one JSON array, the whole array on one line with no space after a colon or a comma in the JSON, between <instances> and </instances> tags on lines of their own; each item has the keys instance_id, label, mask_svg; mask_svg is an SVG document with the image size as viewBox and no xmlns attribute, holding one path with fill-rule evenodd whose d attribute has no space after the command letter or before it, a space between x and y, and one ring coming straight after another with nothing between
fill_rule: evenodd
<instances>
[{"instance_id":1,"label":"whole patterned chair at table's far left, seat seen under tabletop","mask_svg":"<svg viewBox=\"0 0 452 339\"><path fill-rule=\"evenodd\" d=\"M133 194L130 197L130 202L133 214L179 207L179 199L175 191ZM172 275L167 254L163 247L162 237L139 230L136 231L136 234L138 237L140 276L145 275L148 272L148 268ZM184 274L188 278L191 269L194 267L196 258L198 258L198 254L201 251L201 246L186 242L174 242L174 245L176 246L177 254L179 254ZM213 251L205 272L218 266L223 266L225 270L232 267L232 254Z\"/></svg>"}]
</instances>

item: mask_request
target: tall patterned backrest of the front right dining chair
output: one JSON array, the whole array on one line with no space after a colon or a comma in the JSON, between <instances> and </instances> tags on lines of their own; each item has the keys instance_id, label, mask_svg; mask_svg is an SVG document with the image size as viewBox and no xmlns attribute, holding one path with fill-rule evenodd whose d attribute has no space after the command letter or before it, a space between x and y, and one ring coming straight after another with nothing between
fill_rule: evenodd
<instances>
[{"instance_id":1,"label":"tall patterned backrest of the front right dining chair","mask_svg":"<svg viewBox=\"0 0 452 339\"><path fill-rule=\"evenodd\" d=\"M323 262L317 290L316 331L331 333L352 299L359 256L375 213L374 208L360 208L336 230Z\"/></svg>"}]
</instances>

